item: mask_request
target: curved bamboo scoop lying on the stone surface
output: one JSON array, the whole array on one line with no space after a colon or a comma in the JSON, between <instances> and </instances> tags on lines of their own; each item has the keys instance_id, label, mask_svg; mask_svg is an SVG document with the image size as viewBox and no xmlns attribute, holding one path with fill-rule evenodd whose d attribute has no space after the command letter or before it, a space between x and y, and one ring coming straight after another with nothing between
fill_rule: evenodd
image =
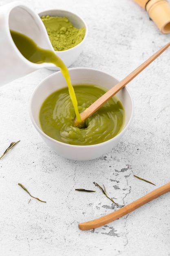
<instances>
[{"instance_id":1,"label":"curved bamboo scoop lying on the stone surface","mask_svg":"<svg viewBox=\"0 0 170 256\"><path fill-rule=\"evenodd\" d=\"M168 191L170 191L170 182L159 187L158 189L151 191L150 193L122 207L121 209L114 211L113 213L109 213L95 220L79 223L79 229L82 229L82 230L95 229L97 227L101 227L102 225L106 225L107 223L112 222L113 220L117 220L118 218L130 213L131 211L134 211L135 209L139 208L143 204L150 202L151 200L159 197L160 195L163 195Z\"/></svg>"}]
</instances>

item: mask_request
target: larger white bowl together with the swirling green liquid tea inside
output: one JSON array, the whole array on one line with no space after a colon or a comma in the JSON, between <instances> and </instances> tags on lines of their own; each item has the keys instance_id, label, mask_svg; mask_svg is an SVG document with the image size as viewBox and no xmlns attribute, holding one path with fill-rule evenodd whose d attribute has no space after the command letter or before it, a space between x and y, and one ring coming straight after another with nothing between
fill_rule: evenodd
<instances>
[{"instance_id":1,"label":"larger white bowl together with the swirling green liquid tea inside","mask_svg":"<svg viewBox=\"0 0 170 256\"><path fill-rule=\"evenodd\" d=\"M113 76L95 69L68 71L79 112L118 83ZM125 87L82 127L75 127L75 109L60 71L38 85L30 102L31 121L46 144L62 157L80 161L95 159L114 148L128 130L133 112L133 100Z\"/></svg>"}]
</instances>

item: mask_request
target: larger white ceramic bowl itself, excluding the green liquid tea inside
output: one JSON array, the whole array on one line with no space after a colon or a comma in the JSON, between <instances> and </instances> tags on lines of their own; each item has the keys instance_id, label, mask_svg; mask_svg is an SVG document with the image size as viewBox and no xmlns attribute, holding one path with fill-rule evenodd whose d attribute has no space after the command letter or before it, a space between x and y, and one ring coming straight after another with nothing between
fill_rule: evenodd
<instances>
[{"instance_id":1,"label":"larger white ceramic bowl itself, excluding the green liquid tea inside","mask_svg":"<svg viewBox=\"0 0 170 256\"><path fill-rule=\"evenodd\" d=\"M105 88L110 89L118 83L117 79L115 79L113 76L91 68L71 68L69 69L69 74L73 85L88 83L101 85ZM50 148L52 148L57 154L63 157L74 160L90 160L104 155L106 152L110 151L113 147L116 146L118 141L121 139L121 137L130 126L134 113L134 104L132 97L130 96L130 92L125 87L116 94L121 103L123 104L125 110L125 122L121 132L114 138L99 144L89 146L76 146L65 144L55 139L52 139L41 130L39 123L39 111L43 101L52 92L55 92L56 90L66 86L67 85L65 79L60 71L48 76L38 85L38 87L33 92L29 109L33 125L38 130L40 136L42 137L42 139L44 139L46 144Z\"/></svg>"}]
</instances>

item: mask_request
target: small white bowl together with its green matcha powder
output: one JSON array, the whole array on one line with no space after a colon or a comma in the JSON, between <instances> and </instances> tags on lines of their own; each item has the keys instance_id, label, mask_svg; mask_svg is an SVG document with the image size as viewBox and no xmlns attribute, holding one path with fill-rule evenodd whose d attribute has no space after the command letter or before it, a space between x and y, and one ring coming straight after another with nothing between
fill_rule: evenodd
<instances>
[{"instance_id":1,"label":"small white bowl together with its green matcha powder","mask_svg":"<svg viewBox=\"0 0 170 256\"><path fill-rule=\"evenodd\" d=\"M88 27L86 22L75 13L60 9L45 10L40 16L55 53L66 67L70 67L81 54L86 42ZM47 67L59 70L58 67Z\"/></svg>"}]
</instances>

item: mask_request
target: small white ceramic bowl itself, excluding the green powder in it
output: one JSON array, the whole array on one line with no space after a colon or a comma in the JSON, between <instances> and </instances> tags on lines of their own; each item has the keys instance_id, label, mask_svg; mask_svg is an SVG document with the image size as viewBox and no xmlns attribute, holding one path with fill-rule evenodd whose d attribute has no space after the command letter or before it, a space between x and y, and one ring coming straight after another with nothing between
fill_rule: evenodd
<instances>
[{"instance_id":1,"label":"small white ceramic bowl itself, excluding the green powder in it","mask_svg":"<svg viewBox=\"0 0 170 256\"><path fill-rule=\"evenodd\" d=\"M46 15L67 17L68 20L72 23L72 25L74 27L76 27L77 29L80 29L81 27L85 28L86 32L85 32L85 36L84 36L84 39L82 40L82 42L80 42L78 45L76 45L68 50L55 51L57 56L59 56L62 59L62 61L66 65L66 67L70 67L76 61L76 59L79 57L80 53L83 50L84 43L86 41L87 34L88 34L88 27L86 25L86 22L77 14L72 13L70 11L60 10L60 9L51 9L51 10L42 11L42 12L38 13L38 15L40 17L46 16ZM51 67L48 66L47 68L50 70L60 70L58 67L54 67L53 65L51 65Z\"/></svg>"}]
</instances>

